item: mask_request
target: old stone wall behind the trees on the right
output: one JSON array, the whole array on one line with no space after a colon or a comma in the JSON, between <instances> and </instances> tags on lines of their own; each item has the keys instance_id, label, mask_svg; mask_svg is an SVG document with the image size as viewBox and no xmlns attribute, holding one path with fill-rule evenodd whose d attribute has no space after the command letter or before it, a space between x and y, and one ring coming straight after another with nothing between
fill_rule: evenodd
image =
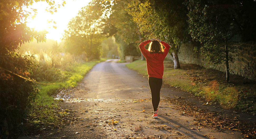
<instances>
[{"instance_id":1,"label":"old stone wall behind the trees on the right","mask_svg":"<svg viewBox=\"0 0 256 139\"><path fill-rule=\"evenodd\" d=\"M201 65L204 68L213 68L212 65L207 64L204 56L194 51L195 45L199 44L194 42L182 44L178 54L179 61ZM233 57L233 63L230 63L230 73L256 80L256 43L252 41L239 42L232 43L232 46L234 49L229 53ZM226 71L224 63L215 68L223 72Z\"/></svg>"}]
</instances>

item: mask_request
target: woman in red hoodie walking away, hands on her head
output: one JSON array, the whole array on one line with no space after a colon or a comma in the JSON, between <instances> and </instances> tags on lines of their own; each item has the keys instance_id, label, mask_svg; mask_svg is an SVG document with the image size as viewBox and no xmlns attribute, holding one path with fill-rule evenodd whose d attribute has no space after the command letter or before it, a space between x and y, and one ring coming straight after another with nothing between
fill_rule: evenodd
<instances>
[{"instance_id":1,"label":"woman in red hoodie walking away, hands on her head","mask_svg":"<svg viewBox=\"0 0 256 139\"><path fill-rule=\"evenodd\" d=\"M151 43L148 50L146 50L144 46L149 42ZM164 45L165 49L163 49L160 43ZM152 118L157 118L157 107L160 101L160 89L162 87L162 77L164 74L164 59L170 49L170 46L159 39L150 39L141 42L141 44L139 44L139 49L147 62L148 84L151 91L151 100L154 109Z\"/></svg>"}]
</instances>

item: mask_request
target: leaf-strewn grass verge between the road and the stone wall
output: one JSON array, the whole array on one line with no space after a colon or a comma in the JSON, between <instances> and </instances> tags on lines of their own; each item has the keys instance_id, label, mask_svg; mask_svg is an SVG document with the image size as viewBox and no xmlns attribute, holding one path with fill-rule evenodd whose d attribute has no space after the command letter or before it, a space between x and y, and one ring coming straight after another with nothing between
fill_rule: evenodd
<instances>
[{"instance_id":1,"label":"leaf-strewn grass verge between the road and the stone wall","mask_svg":"<svg viewBox=\"0 0 256 139\"><path fill-rule=\"evenodd\" d=\"M224 108L237 108L256 114L256 83L241 76L230 75L225 82L225 73L205 69L194 64L180 63L181 69L173 69L172 61L164 61L163 82L172 87L192 92L207 101L220 103ZM137 60L127 64L147 76L146 61Z\"/></svg>"}]
</instances>

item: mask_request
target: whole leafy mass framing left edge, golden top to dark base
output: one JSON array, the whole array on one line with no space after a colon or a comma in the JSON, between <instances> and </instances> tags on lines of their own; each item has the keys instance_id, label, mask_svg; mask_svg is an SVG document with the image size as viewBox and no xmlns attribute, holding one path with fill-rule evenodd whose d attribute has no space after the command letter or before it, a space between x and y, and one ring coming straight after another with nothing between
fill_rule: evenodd
<instances>
[{"instance_id":1,"label":"whole leafy mass framing left edge, golden top to dark base","mask_svg":"<svg viewBox=\"0 0 256 139\"><path fill-rule=\"evenodd\" d=\"M16 52L24 42L36 39L45 41L46 31L35 31L26 26L29 16L36 15L36 9L24 10L34 2L45 0L9 0L0 2L0 134L18 133L18 124L26 116L26 110L38 90L29 75L36 68L34 57ZM53 13L63 3L47 0L48 10ZM0 138L8 138L1 136ZM11 137L10 137L11 138Z\"/></svg>"}]
</instances>

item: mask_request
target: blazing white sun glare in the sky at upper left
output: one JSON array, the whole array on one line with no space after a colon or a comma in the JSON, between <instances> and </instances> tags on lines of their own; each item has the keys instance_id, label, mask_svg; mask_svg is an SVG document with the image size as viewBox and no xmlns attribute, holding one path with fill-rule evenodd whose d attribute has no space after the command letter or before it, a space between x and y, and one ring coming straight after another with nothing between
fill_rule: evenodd
<instances>
[{"instance_id":1,"label":"blazing white sun glare in the sky at upper left","mask_svg":"<svg viewBox=\"0 0 256 139\"><path fill-rule=\"evenodd\" d=\"M37 9L37 14L27 19L27 26L37 31L46 30L46 39L53 39L60 42L62 33L67 29L68 22L77 15L78 11L86 6L91 0L65 0L64 7L57 8L57 12L51 14L45 11L49 5L46 2L33 3L28 9ZM55 3L62 5L62 0L55 0Z\"/></svg>"}]
</instances>

